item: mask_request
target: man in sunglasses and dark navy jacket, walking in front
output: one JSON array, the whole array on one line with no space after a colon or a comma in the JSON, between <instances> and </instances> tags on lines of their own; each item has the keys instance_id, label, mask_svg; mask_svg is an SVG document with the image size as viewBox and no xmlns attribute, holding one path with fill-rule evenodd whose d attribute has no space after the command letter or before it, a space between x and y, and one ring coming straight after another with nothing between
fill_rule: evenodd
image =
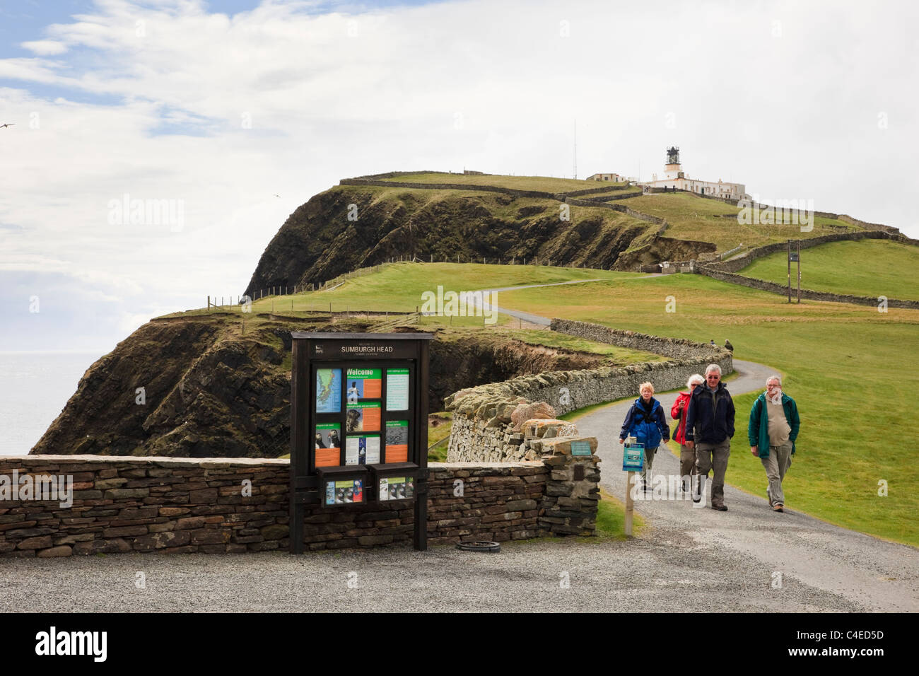
<instances>
[{"instance_id":1,"label":"man in sunglasses and dark navy jacket, walking in front","mask_svg":"<svg viewBox=\"0 0 919 676\"><path fill-rule=\"evenodd\" d=\"M728 388L721 383L721 367L709 364L705 370L705 383L689 396L686 414L686 446L696 449L697 485L693 502L702 499L705 480L714 467L711 480L711 509L727 511L724 504L724 474L731 455L731 438L734 436L734 400Z\"/></svg>"}]
</instances>

